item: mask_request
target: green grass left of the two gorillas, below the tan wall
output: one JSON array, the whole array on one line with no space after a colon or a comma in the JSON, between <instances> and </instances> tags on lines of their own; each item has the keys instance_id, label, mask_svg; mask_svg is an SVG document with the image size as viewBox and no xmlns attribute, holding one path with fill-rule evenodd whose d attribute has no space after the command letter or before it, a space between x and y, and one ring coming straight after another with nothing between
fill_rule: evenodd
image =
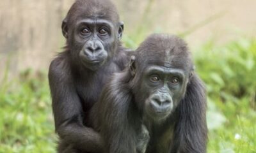
<instances>
[{"instance_id":1,"label":"green grass left of the two gorillas, below the tan wall","mask_svg":"<svg viewBox=\"0 0 256 153\"><path fill-rule=\"evenodd\" d=\"M54 152L56 136L46 75L32 71L0 87L0 152Z\"/></svg>"}]
</instances>

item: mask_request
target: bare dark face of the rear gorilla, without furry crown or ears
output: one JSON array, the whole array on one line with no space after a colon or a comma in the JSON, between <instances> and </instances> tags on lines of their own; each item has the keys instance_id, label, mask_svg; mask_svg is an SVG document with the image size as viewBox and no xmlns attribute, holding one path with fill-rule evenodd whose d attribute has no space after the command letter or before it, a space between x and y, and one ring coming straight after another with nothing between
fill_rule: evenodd
<instances>
[{"instance_id":1,"label":"bare dark face of the rear gorilla, without furry crown or ears","mask_svg":"<svg viewBox=\"0 0 256 153\"><path fill-rule=\"evenodd\" d=\"M74 29L74 40L81 46L79 59L83 65L91 69L102 66L115 41L115 26L108 20L92 17L81 20Z\"/></svg>"}]
</instances>

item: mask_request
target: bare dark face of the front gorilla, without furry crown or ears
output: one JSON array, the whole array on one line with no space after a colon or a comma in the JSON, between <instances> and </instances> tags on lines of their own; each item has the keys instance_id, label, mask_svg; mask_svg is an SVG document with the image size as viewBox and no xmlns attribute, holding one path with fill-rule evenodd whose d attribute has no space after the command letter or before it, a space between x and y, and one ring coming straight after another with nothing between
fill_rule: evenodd
<instances>
[{"instance_id":1,"label":"bare dark face of the front gorilla, without furry crown or ears","mask_svg":"<svg viewBox=\"0 0 256 153\"><path fill-rule=\"evenodd\" d=\"M177 106L186 88L188 79L184 71L168 66L148 66L143 78L142 91L150 95L145 100L145 113L157 120L165 119Z\"/></svg>"}]
</instances>

